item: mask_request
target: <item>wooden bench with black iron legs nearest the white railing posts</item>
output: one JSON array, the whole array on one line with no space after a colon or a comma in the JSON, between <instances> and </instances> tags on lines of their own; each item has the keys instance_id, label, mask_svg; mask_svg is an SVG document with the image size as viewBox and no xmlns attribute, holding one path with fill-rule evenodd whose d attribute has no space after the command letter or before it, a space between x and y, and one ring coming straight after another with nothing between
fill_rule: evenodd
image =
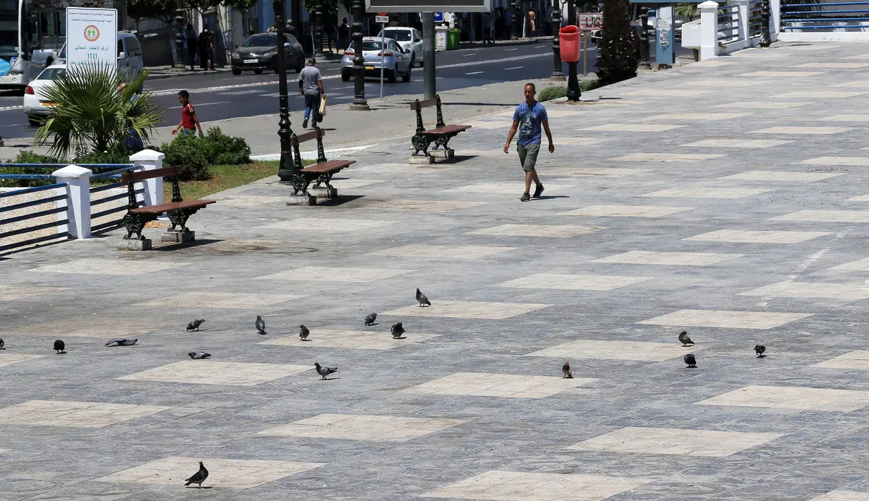
<instances>
[{"instance_id":1,"label":"wooden bench with black iron legs nearest the white railing posts","mask_svg":"<svg viewBox=\"0 0 869 501\"><path fill-rule=\"evenodd\" d=\"M180 167L165 167L156 168L154 170L144 170L141 172L127 172L121 175L121 181L127 183L129 201L127 204L127 214L123 216L123 226L127 228L127 236L124 240L130 240L135 233L139 240L145 241L142 236L142 228L149 221L154 221L160 214L166 213L169 215L169 221L172 222L172 228L169 232L182 232L189 234L190 230L187 227L188 218L196 214L199 209L215 203L213 200L191 200L183 201L181 198L181 187L178 185L178 175L181 174ZM146 179L154 179L156 177L172 176L172 202L162 203L160 205L150 205L145 207L137 207L136 204L136 181ZM176 227L181 227L176 230Z\"/></svg>"}]
</instances>

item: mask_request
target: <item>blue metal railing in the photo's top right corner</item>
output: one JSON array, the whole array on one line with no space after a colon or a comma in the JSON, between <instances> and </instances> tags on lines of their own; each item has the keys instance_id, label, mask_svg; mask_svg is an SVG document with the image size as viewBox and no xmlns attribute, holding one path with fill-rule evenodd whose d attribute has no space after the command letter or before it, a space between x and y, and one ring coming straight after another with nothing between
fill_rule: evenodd
<instances>
[{"instance_id":1,"label":"blue metal railing in the photo's top right corner","mask_svg":"<svg viewBox=\"0 0 869 501\"><path fill-rule=\"evenodd\" d=\"M862 9L841 9L862 7ZM869 30L869 1L784 3L782 30Z\"/></svg>"}]
</instances>

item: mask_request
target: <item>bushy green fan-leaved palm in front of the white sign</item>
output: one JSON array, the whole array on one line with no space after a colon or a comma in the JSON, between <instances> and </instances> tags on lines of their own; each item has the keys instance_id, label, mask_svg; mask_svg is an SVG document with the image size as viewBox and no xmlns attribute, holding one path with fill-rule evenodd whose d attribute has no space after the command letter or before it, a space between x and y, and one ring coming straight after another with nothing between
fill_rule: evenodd
<instances>
[{"instance_id":1,"label":"bushy green fan-leaved palm in front of the white sign","mask_svg":"<svg viewBox=\"0 0 869 501\"><path fill-rule=\"evenodd\" d=\"M50 109L48 120L36 130L34 143L51 142L49 154L67 158L70 151L124 148L131 131L148 141L163 110L151 101L150 93L135 94L147 77L148 72L143 71L121 89L123 80L108 66L67 69L44 91L45 101L59 104Z\"/></svg>"}]
</instances>

